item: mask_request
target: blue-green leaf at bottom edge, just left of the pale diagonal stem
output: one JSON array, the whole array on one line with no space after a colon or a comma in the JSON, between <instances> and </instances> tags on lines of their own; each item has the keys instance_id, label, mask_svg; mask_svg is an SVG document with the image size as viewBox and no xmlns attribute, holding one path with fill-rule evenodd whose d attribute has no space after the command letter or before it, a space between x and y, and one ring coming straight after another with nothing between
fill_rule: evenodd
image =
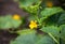
<instances>
[{"instance_id":1,"label":"blue-green leaf at bottom edge, just left of the pale diagonal stem","mask_svg":"<svg viewBox=\"0 0 65 44\"><path fill-rule=\"evenodd\" d=\"M36 44L55 44L55 42L49 35L44 35Z\"/></svg>"}]
</instances>

